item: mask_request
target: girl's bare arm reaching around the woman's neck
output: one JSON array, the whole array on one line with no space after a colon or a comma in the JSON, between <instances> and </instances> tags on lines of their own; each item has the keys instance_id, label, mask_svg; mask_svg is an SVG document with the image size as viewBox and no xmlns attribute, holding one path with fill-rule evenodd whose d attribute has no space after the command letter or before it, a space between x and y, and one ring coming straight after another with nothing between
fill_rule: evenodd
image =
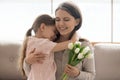
<instances>
[{"instance_id":1,"label":"girl's bare arm reaching around the woman's neck","mask_svg":"<svg viewBox=\"0 0 120 80\"><path fill-rule=\"evenodd\" d=\"M71 38L71 40L57 43L56 46L52 49L52 52L57 52L57 51L61 51L61 50L67 49L68 48L68 44L71 43L71 42L75 42L76 40L77 40L77 35L75 33L73 35L73 37Z\"/></svg>"}]
</instances>

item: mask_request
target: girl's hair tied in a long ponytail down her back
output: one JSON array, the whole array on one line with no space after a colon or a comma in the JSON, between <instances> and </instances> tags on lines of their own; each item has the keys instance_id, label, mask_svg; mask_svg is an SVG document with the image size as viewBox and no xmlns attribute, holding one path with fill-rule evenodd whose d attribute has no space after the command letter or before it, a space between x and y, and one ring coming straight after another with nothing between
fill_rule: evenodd
<instances>
[{"instance_id":1,"label":"girl's hair tied in a long ponytail down her back","mask_svg":"<svg viewBox=\"0 0 120 80\"><path fill-rule=\"evenodd\" d=\"M26 78L26 74L25 74L25 71L23 68L23 63L24 63L24 59L26 57L26 48L27 48L28 37L32 36L32 33L31 33L32 30L34 31L34 33L36 33L42 23L44 23L45 25L55 25L55 19L47 14L40 15L36 18L32 27L26 32L25 39L21 46L19 62L18 62L19 70L22 73L23 77L25 77L25 78Z\"/></svg>"}]
</instances>

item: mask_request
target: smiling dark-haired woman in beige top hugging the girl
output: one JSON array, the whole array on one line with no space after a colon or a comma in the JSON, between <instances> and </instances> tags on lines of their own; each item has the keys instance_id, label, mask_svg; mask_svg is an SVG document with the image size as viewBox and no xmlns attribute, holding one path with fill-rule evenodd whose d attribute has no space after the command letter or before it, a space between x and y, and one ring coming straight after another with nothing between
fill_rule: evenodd
<instances>
[{"instance_id":1,"label":"smiling dark-haired woman in beige top hugging the girl","mask_svg":"<svg viewBox=\"0 0 120 80\"><path fill-rule=\"evenodd\" d=\"M81 12L72 2L64 2L60 4L55 11L55 16L56 28L59 31L59 38L56 42L63 42L71 39L73 34L81 27ZM91 47L87 40L80 38L79 41L82 42L82 45ZM66 65L68 61L68 54L66 52L67 50L63 50L55 54L55 62L57 65L56 80L61 80L63 72L69 76L68 80L93 80L95 77L94 58L84 59L77 66L70 66ZM43 54L37 56L31 54L29 57L26 57L24 61L25 72L29 72L30 67L28 64L32 64L38 60L42 62L44 59L45 55Z\"/></svg>"}]
</instances>

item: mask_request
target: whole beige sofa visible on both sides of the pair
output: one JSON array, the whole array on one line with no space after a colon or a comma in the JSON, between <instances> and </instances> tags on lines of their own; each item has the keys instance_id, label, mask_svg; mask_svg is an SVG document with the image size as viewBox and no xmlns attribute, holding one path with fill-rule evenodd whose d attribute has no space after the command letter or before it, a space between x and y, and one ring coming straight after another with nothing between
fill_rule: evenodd
<instances>
[{"instance_id":1,"label":"whole beige sofa visible on both sides of the pair","mask_svg":"<svg viewBox=\"0 0 120 80\"><path fill-rule=\"evenodd\" d=\"M0 80L23 80L17 59L21 42L0 41ZM120 44L98 43L94 46L95 80L120 80Z\"/></svg>"}]
</instances>

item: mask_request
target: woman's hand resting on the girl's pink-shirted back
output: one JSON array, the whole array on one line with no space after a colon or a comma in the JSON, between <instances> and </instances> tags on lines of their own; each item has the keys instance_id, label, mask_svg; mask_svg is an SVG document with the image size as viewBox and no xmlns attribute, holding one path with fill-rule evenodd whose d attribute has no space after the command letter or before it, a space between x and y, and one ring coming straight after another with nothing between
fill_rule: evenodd
<instances>
[{"instance_id":1,"label":"woman's hand resting on the girl's pink-shirted back","mask_svg":"<svg viewBox=\"0 0 120 80\"><path fill-rule=\"evenodd\" d=\"M43 63L46 54L42 54L42 53L34 53L35 52L35 48L26 56L25 61L28 64L33 64L33 63Z\"/></svg>"}]
</instances>

